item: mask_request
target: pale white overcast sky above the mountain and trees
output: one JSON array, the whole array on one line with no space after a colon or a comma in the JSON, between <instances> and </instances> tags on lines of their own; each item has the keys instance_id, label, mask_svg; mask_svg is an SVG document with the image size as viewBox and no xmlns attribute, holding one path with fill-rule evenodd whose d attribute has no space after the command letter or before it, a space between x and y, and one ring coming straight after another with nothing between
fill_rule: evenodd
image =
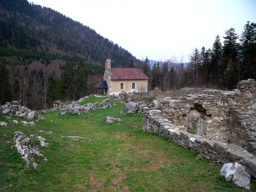
<instances>
[{"instance_id":1,"label":"pale white overcast sky above the mountain and trees","mask_svg":"<svg viewBox=\"0 0 256 192\"><path fill-rule=\"evenodd\" d=\"M256 0L29 0L81 22L137 59L189 61L216 35L256 22Z\"/></svg>"}]
</instances>

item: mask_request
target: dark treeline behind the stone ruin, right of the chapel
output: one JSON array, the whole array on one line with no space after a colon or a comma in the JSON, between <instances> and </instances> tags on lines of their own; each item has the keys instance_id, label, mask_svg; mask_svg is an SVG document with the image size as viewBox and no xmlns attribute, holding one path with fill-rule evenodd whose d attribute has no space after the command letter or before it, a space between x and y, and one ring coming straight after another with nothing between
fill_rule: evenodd
<instances>
[{"instance_id":1,"label":"dark treeline behind the stone ruin, right of the chapel","mask_svg":"<svg viewBox=\"0 0 256 192\"><path fill-rule=\"evenodd\" d=\"M256 24L247 22L240 36L230 28L225 31L223 43L217 35L212 48L195 48L187 66L174 59L150 68L147 57L143 64L143 71L150 78L150 90L184 86L234 89L238 81L256 78Z\"/></svg>"}]
</instances>

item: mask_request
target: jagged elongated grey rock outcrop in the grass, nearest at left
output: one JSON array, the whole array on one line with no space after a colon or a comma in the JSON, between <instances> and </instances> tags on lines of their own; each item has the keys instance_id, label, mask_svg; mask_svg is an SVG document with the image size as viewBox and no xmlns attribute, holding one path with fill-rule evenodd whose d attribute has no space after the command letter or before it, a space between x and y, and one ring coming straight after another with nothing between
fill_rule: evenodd
<instances>
[{"instance_id":1,"label":"jagged elongated grey rock outcrop in the grass, nearest at left","mask_svg":"<svg viewBox=\"0 0 256 192\"><path fill-rule=\"evenodd\" d=\"M34 142L30 139L30 137L27 137L23 132L14 132L13 140L14 147L16 147L19 154L26 161L28 167L32 166L32 168L36 168L36 166L38 165L35 162L36 155L42 156L44 160L47 161L47 158L43 156L42 151L40 151L38 147L36 147Z\"/></svg>"}]
</instances>

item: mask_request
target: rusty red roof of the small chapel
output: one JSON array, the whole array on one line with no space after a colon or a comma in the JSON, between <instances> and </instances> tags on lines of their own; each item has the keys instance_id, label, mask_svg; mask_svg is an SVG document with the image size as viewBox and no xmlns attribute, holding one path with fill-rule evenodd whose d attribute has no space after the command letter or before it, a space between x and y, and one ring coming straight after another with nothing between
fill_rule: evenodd
<instances>
[{"instance_id":1,"label":"rusty red roof of the small chapel","mask_svg":"<svg viewBox=\"0 0 256 192\"><path fill-rule=\"evenodd\" d=\"M111 80L148 80L148 77L138 68L112 68Z\"/></svg>"}]
</instances>

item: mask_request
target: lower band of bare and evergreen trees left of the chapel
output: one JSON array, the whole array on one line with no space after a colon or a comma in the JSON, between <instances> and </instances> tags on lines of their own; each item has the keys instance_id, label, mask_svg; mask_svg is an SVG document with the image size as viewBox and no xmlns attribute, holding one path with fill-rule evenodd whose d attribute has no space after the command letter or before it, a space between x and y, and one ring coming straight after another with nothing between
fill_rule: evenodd
<instances>
[{"instance_id":1,"label":"lower band of bare and evergreen trees left of the chapel","mask_svg":"<svg viewBox=\"0 0 256 192\"><path fill-rule=\"evenodd\" d=\"M24 106L34 109L49 108L53 101L71 101L92 94L92 68L81 60L76 66L61 66L63 73L56 78L54 72L48 74L42 69L28 70L26 65L10 65L8 68L0 62L0 103L19 99ZM102 71L103 73L103 71Z\"/></svg>"}]
</instances>

